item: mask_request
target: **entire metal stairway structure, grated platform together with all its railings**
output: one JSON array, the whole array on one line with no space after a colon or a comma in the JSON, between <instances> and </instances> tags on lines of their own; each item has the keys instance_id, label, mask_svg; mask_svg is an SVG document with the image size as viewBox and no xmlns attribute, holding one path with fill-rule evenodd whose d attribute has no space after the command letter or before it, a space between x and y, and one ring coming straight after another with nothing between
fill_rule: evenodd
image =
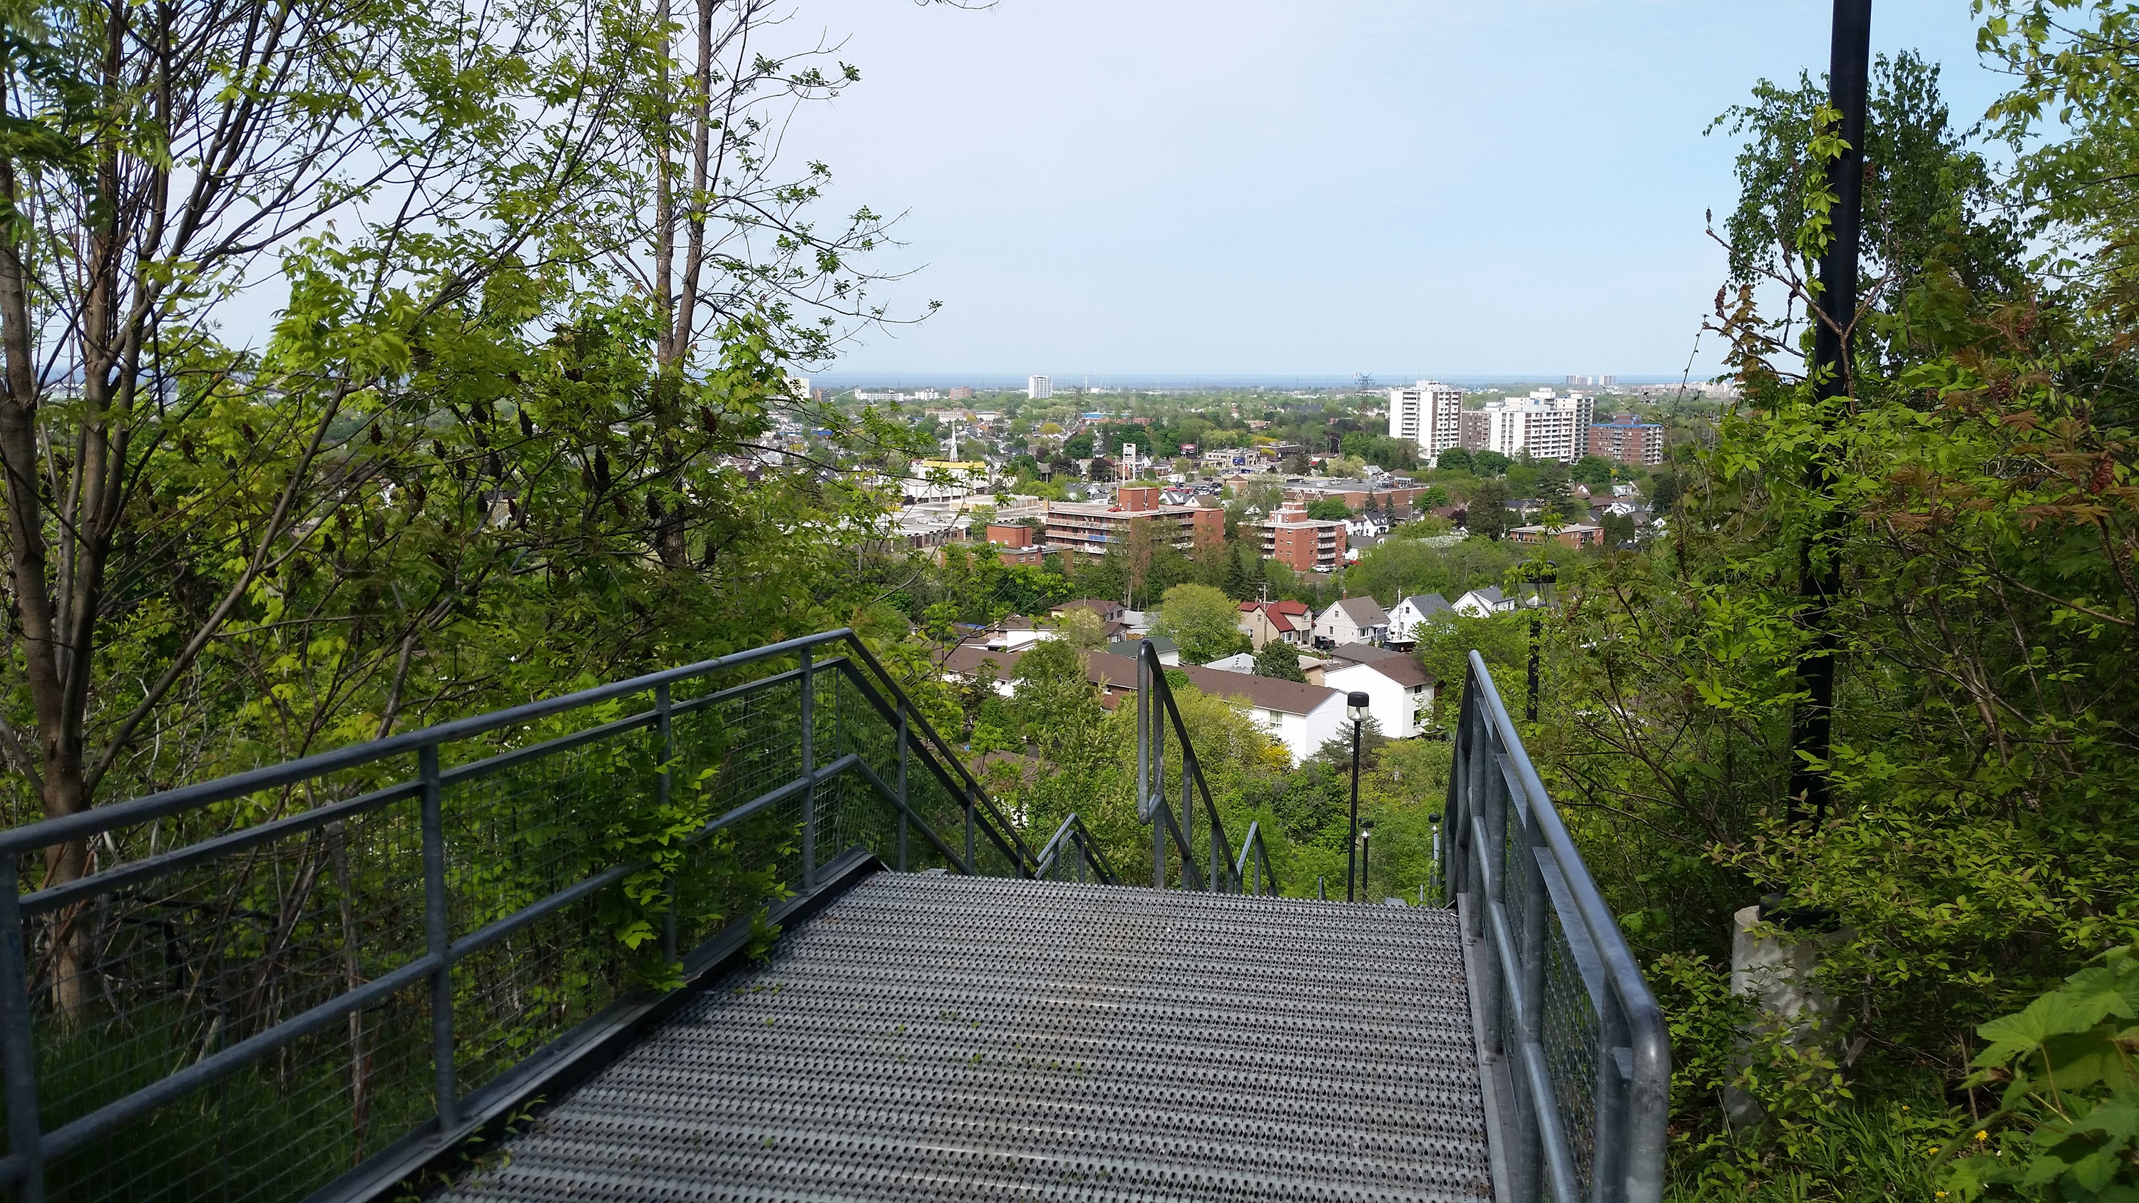
<instances>
[{"instance_id":1,"label":"entire metal stairway structure, grated platform together with all its railings","mask_svg":"<svg viewBox=\"0 0 2139 1203\"><path fill-rule=\"evenodd\" d=\"M1482 662L1459 912L1279 897L1138 675L1157 889L849 630L0 831L0 1184L1658 1199L1660 1017Z\"/></svg>"}]
</instances>

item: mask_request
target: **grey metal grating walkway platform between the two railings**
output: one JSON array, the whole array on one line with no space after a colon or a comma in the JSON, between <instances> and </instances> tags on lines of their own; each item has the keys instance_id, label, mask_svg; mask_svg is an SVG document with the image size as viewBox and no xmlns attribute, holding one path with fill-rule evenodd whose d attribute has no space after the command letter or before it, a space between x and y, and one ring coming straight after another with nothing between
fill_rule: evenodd
<instances>
[{"instance_id":1,"label":"grey metal grating walkway platform between the two railings","mask_svg":"<svg viewBox=\"0 0 2139 1203\"><path fill-rule=\"evenodd\" d=\"M1491 1194L1457 917L877 874L441 1194Z\"/></svg>"}]
</instances>

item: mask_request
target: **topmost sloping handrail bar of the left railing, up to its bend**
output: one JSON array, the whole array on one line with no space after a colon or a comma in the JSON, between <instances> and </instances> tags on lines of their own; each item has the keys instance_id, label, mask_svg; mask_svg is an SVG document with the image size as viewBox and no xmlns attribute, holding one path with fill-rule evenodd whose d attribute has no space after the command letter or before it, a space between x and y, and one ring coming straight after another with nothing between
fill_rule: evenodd
<instances>
[{"instance_id":1,"label":"topmost sloping handrail bar of the left railing, up to its bend","mask_svg":"<svg viewBox=\"0 0 2139 1203\"><path fill-rule=\"evenodd\" d=\"M259 793L265 788L287 786L302 782L306 778L317 778L321 774L332 774L340 769L353 769L359 765L370 765L374 761L385 761L389 756L400 756L415 752L428 744L451 744L458 739L468 739L471 735L483 735L501 727L515 727L522 722L535 722L539 718L550 718L552 714L563 714L567 709L578 709L582 705L593 705L597 701L607 701L612 697L629 697L635 692L652 690L655 686L682 682L691 677L704 677L708 673L719 673L725 669L738 669L742 665L755 665L757 660L772 660L779 656L791 656L806 647L819 643L832 643L853 637L853 628L841 626L838 630L826 630L821 635L804 635L800 639L787 639L781 643L768 643L764 647L753 647L749 652L736 652L732 656L717 656L712 660L699 660L697 665L682 665L678 669L663 669L659 673L646 673L625 682L614 682L607 686L593 686L569 694L558 694L552 699L530 701L524 705L477 714L471 718L456 718L451 722L441 722L436 727L421 727L417 731L404 731L400 735L387 735L385 739L368 739L364 744L351 744L349 748L336 748L332 752L314 752L297 761L284 761L280 765L265 765L259 769L248 769L244 774L231 774L227 778L216 778L212 782L199 782L190 786L180 786L163 793L152 793L135 797L128 801L116 801L111 806L98 806L83 810L81 814L66 814L60 818L45 818L30 823L26 827L15 827L11 831L0 831L0 855L19 855L34 848L45 848L51 844L62 844L68 840L81 840L109 831L113 827L128 827L135 823L148 823L152 818L163 818L167 814L178 814L182 810L193 810L197 806L207 806L216 801L227 801L233 797L244 797L248 793ZM853 639L860 645L860 639Z\"/></svg>"}]
</instances>

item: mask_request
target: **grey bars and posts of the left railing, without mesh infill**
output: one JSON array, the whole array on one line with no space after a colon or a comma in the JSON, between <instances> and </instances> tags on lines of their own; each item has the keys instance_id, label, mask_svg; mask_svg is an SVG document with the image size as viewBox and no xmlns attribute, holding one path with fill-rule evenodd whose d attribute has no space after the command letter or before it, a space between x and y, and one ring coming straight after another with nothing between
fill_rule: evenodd
<instances>
[{"instance_id":1,"label":"grey bars and posts of the left railing, without mesh infill","mask_svg":"<svg viewBox=\"0 0 2139 1203\"><path fill-rule=\"evenodd\" d=\"M849 656L817 658L815 650L843 643ZM776 660L783 656L794 656L798 660L796 669L772 673L734 688L714 690L704 697L672 701L670 688L678 682L691 682L702 677L712 677L725 671L759 665L766 660ZM868 669L864 673L862 669ZM843 756L832 756L824 763L815 759L817 731L815 722L821 718L826 707L817 703L817 682L819 679L849 679L856 684L856 692L875 709L892 729L896 729L896 754L898 771L896 782L886 780L877 774L858 752L847 752ZM875 677L875 679L871 679ZM186 1098L220 1079L227 1079L265 1058L276 1056L282 1049L291 1049L299 1041L327 1030L344 1019L351 1019L372 1006L379 1006L389 996L402 991L421 991L430 987L430 1056L436 1066L436 1088L434 1088L434 1109L436 1118L430 1120L428 1128L411 1132L415 1139L430 1132L432 1141L451 1143L460 1135L473 1130L473 1120L464 1113L468 1098L462 1096L456 1083L456 1030L453 1030L453 966L468 959L475 953L498 947L507 938L528 929L533 923L563 912L567 906L593 900L597 893L618 887L637 874L646 874L655 868L650 857L635 857L627 863L610 863L586 872L580 880L563 885L550 891L545 897L518 906L509 915L490 917L488 923L473 932L464 932L458 938L451 932L451 921L447 915L449 897L445 885L445 791L460 782L473 782L515 765L528 765L545 756L569 752L573 748L584 748L597 741L614 739L627 733L652 731L657 744L661 746L659 765L655 767L659 799L670 797L670 765L674 759L674 744L670 735L670 724L678 716L687 716L697 709L721 705L725 701L742 701L751 694L772 690L774 686L796 684L800 688L800 722L798 722L798 756L800 763L791 780L772 784L757 793L757 797L729 808L695 831L682 838L682 846L695 846L723 829L736 827L744 818L761 814L779 803L789 803L800 799L800 859L802 859L802 893L811 893L817 887L817 870L821 857L815 853L817 838L817 793L824 791L832 780L856 774L866 786L890 803L896 814L896 863L907 865L907 833L918 829L928 846L943 857L950 865L958 868L963 874L978 874L980 863L975 859L975 840L986 835L995 844L1010 870L1018 876L1035 876L1037 859L1025 846L1016 827L1007 823L1003 812L986 795L978 780L965 769L950 746L935 733L928 720L915 709L913 701L905 694L898 682L883 669L881 662L868 652L862 639L851 628L828 630L821 635L811 635L802 639L787 639L766 647L753 647L749 652L738 652L732 656L719 656L712 660L702 660L697 665L684 665L678 669L665 669L659 673L637 675L625 682L612 682L605 686L595 686L586 690L575 690L571 694L541 699L526 705L481 714L473 718L462 718L453 722L441 722L434 727L424 727L417 731L406 731L385 739L372 739L368 744L355 744L349 748L336 748L332 752L319 752L282 765L267 765L261 769L250 769L244 774L233 774L227 778L199 782L156 795L137 797L130 801L120 801L113 806L101 806L81 814L49 818L41 823L30 823L9 831L0 831L0 853L9 855L11 880L6 889L0 889L0 1071L4 1071L4 1098L6 1098L6 1135L9 1154L0 1158L0 1186L9 1186L15 1199L34 1203L43 1199L43 1177L45 1162L60 1158L68 1152L83 1150L92 1141L116 1132L120 1126L139 1122L158 1107ZM513 729L526 729L528 724L567 714L580 707L599 705L605 701L652 694L655 707L631 714L625 718L614 718L599 722L595 727L573 731L569 735L545 739L524 748L498 750L490 756L453 765L449 769L441 767L441 746L464 741L479 735L509 733ZM830 720L838 720L838 707L830 707ZM116 863L103 868L101 872L88 874L83 878L60 882L53 887L24 891L21 876L15 865L26 853L39 848L49 848L56 844L66 844L75 840L90 840L118 829L139 827L145 823L165 821L186 812L199 812L203 808L242 799L248 795L259 795L263 791L287 791L289 786L302 786L317 778L327 778L329 774L342 774L349 769L359 769L366 765L376 765L394 756L417 759L417 774L411 780L400 780L383 788L372 788L359 797L349 797L340 801L327 801L295 814L284 814L257 823L250 827L237 827L233 831L222 831L203 840L195 840L180 848L169 848L158 855L150 855L135 861ZM918 814L909 803L907 778L909 761L920 759L922 767L930 771L943 791L958 799L965 818L965 848L958 848L945 840L926 816ZM284 795L287 797L287 795ZM421 880L424 880L424 938L419 944L421 953L406 953L398 964L372 977L370 981L351 981L336 996L325 998L295 1015L284 1015L270 1021L265 1028L244 1034L233 1043L218 1047L214 1051L203 1049L199 1058L190 1064L182 1064L165 1073L137 1090L130 1090L118 1098L109 1098L96 1105L83 1115L77 1115L58 1128L45 1130L39 1118L39 1047L36 1032L32 1026L32 994L28 974L28 953L26 947L26 919L64 910L68 915L81 915L86 908L103 906L105 900L120 897L122 891L139 893L139 887L152 885L156 878L178 874L188 868L201 868L216 861L237 859L240 855L259 855L265 846L276 842L291 842L297 838L317 840L321 833L338 831L359 816L372 814L381 808L394 803L409 803L421 799ZM415 827L411 823L411 827ZM116 850L116 848L113 848ZM1104 863L1104 861L1102 861ZM725 938L725 936L721 936ZM663 955L676 962L674 949L674 910L670 910L670 932L663 936ZM520 1064L530 1064L550 1053L552 1047L571 1036L560 1036L552 1045L539 1049L528 1049ZM385 1154L381 1154L385 1156Z\"/></svg>"}]
</instances>

